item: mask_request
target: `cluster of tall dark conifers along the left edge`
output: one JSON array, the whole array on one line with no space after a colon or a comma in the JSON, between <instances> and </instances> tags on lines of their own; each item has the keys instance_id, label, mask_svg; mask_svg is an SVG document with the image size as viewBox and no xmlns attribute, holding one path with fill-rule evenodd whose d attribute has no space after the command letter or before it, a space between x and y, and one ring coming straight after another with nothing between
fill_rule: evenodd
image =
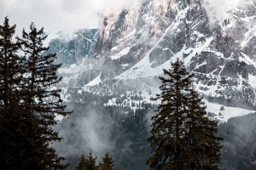
<instances>
[{"instance_id":1,"label":"cluster of tall dark conifers along the left edge","mask_svg":"<svg viewBox=\"0 0 256 170\"><path fill-rule=\"evenodd\" d=\"M61 81L54 65L55 54L43 53L44 29L32 25L30 31L15 34L6 17L0 26L0 150L3 169L66 169L63 156L50 144L60 141L52 126L55 115L67 116L61 105ZM18 55L21 50L24 54ZM51 99L49 101L49 99Z\"/></svg>"}]
</instances>

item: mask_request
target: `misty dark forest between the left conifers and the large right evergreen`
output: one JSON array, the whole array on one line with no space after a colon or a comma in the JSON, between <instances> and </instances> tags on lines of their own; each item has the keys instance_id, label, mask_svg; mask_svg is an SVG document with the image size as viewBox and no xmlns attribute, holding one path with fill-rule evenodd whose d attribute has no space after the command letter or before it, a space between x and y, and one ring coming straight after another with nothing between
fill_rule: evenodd
<instances>
[{"instance_id":1,"label":"misty dark forest between the left conifers and the large right evergreen","mask_svg":"<svg viewBox=\"0 0 256 170\"><path fill-rule=\"evenodd\" d=\"M150 148L146 139L154 105L146 105L136 111L119 106L67 105L74 113L55 127L63 137L55 147L71 163L68 169L74 169L82 152L90 150L98 158L108 152L115 161L115 167L122 170L148 169L145 161L150 156Z\"/></svg>"}]
</instances>

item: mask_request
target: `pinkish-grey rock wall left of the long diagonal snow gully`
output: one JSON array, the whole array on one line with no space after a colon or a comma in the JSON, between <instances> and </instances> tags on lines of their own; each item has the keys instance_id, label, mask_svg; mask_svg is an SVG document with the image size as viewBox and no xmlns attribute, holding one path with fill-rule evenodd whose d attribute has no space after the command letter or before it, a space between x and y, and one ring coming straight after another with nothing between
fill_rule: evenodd
<instances>
[{"instance_id":1,"label":"pinkish-grey rock wall left of the long diagonal snow gully","mask_svg":"<svg viewBox=\"0 0 256 170\"><path fill-rule=\"evenodd\" d=\"M97 65L108 70L102 75L104 80L118 76L143 59L174 20L174 5L167 1L145 1L118 14L108 11L94 53Z\"/></svg>"}]
</instances>

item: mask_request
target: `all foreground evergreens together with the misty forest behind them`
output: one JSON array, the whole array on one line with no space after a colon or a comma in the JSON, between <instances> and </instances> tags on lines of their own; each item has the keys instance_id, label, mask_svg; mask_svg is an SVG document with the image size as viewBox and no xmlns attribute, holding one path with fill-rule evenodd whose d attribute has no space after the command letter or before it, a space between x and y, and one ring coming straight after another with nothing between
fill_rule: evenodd
<instances>
[{"instance_id":1,"label":"all foreground evergreens together with the misty forest behind them","mask_svg":"<svg viewBox=\"0 0 256 170\"><path fill-rule=\"evenodd\" d=\"M224 123L207 117L181 60L159 77L160 94L152 100L160 105L144 103L139 90L131 107L103 105L108 95L75 88L68 88L74 101L63 103L56 88L61 64L47 53L44 35L32 23L14 38L7 17L0 26L1 169L256 168L256 115ZM63 116L61 122L56 116ZM100 149L91 150L92 144Z\"/></svg>"}]
</instances>

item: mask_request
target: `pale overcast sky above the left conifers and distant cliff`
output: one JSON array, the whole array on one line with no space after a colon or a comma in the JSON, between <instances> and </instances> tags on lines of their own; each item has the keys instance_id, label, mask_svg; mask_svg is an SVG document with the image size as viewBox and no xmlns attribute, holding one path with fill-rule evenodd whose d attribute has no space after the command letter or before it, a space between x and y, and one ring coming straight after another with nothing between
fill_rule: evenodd
<instances>
[{"instance_id":1,"label":"pale overcast sky above the left conifers and distant cliff","mask_svg":"<svg viewBox=\"0 0 256 170\"><path fill-rule=\"evenodd\" d=\"M97 28L97 13L105 8L128 8L135 0L0 0L0 24L5 16L17 25L16 34L32 22L44 31Z\"/></svg>"}]
</instances>

